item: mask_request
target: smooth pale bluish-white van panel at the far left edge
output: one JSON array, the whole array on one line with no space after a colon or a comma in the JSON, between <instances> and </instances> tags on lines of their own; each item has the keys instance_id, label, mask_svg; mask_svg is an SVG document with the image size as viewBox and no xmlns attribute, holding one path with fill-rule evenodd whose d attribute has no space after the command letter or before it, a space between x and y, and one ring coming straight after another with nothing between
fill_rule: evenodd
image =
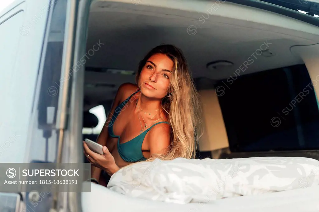
<instances>
[{"instance_id":1,"label":"smooth pale bluish-white van panel at the far left edge","mask_svg":"<svg viewBox=\"0 0 319 212\"><path fill-rule=\"evenodd\" d=\"M28 135L48 17L48 9L42 8L48 8L49 2L16 1L0 17L2 163L27 160L28 141L31 139ZM42 16L36 19L34 15L39 11Z\"/></svg>"}]
</instances>

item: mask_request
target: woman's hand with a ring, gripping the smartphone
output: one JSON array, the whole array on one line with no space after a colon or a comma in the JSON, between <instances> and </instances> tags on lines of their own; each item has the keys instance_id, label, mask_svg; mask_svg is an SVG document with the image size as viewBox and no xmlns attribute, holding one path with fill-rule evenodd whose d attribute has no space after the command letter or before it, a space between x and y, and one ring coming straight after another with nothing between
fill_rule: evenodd
<instances>
[{"instance_id":1,"label":"woman's hand with a ring, gripping the smartphone","mask_svg":"<svg viewBox=\"0 0 319 212\"><path fill-rule=\"evenodd\" d=\"M113 155L108 151L106 146L102 148L104 155L100 155L91 151L84 141L83 148L85 157L93 166L106 171L110 176L119 170Z\"/></svg>"}]
</instances>

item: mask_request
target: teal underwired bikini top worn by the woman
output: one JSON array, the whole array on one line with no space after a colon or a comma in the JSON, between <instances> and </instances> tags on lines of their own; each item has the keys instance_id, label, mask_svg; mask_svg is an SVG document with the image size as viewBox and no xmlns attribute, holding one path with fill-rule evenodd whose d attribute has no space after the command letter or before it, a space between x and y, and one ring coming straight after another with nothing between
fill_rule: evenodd
<instances>
[{"instance_id":1,"label":"teal underwired bikini top worn by the woman","mask_svg":"<svg viewBox=\"0 0 319 212\"><path fill-rule=\"evenodd\" d=\"M140 90L138 90L137 92L139 92L139 91ZM111 136L112 138L117 138L117 151L118 151L118 153L120 154L122 159L124 161L127 161L127 162L145 161L146 158L143 156L143 153L142 153L142 144L143 144L143 140L145 138L146 133L148 131L150 131L153 126L158 125L160 123L169 124L166 121L158 122L158 123L152 125L147 130L145 130L143 133L139 134L137 137L133 138L132 140L129 140L125 143L120 144L120 136L114 134L113 125L114 125L114 122L115 122L117 115L121 113L121 111L122 111L123 107L126 105L126 103L129 102L130 98L133 95L135 95L137 92L130 95L126 100L124 100L121 104L119 104L115 108L114 114L113 114L112 120L111 120L111 123L113 123L113 124L108 127L109 136Z\"/></svg>"}]
</instances>

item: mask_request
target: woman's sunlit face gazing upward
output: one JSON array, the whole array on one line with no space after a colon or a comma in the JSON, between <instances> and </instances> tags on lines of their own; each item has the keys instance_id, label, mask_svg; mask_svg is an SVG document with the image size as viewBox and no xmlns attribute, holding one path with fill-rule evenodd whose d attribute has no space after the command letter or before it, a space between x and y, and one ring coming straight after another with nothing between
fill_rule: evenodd
<instances>
[{"instance_id":1,"label":"woman's sunlit face gazing upward","mask_svg":"<svg viewBox=\"0 0 319 212\"><path fill-rule=\"evenodd\" d=\"M162 99L168 93L174 62L163 54L154 54L148 58L138 79L143 95Z\"/></svg>"}]
</instances>

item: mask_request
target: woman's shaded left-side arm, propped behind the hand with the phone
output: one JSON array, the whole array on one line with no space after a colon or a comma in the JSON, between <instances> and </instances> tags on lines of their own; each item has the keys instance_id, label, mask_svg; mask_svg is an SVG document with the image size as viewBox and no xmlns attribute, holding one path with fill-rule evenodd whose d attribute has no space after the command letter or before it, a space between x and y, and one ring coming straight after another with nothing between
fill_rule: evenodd
<instances>
[{"instance_id":1,"label":"woman's shaded left-side arm, propped behind the hand with the phone","mask_svg":"<svg viewBox=\"0 0 319 212\"><path fill-rule=\"evenodd\" d=\"M106 118L105 124L96 140L96 142L102 146L106 146L106 141L108 140L108 126L110 125L110 119L112 118L112 114L114 114L115 108L124 101L123 98L126 98L126 93L132 90L134 85L131 83L122 84L115 95L112 108ZM113 123L112 123L113 124ZM101 169L91 165L91 178L95 178L99 181L101 174Z\"/></svg>"}]
</instances>

